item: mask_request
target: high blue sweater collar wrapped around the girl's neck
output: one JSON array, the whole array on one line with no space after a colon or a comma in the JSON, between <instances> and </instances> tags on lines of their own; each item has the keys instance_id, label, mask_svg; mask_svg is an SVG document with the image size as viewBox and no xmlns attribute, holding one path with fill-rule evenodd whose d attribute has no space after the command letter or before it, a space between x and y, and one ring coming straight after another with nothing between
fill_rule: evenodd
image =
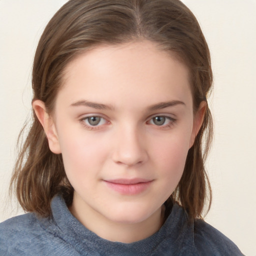
<instances>
[{"instance_id":1,"label":"high blue sweater collar wrapped around the girl's neck","mask_svg":"<svg viewBox=\"0 0 256 256\"><path fill-rule=\"evenodd\" d=\"M65 240L81 255L151 255L171 244L177 247L177 234L180 229L187 226L187 216L180 206L174 204L169 216L161 228L151 236L132 243L112 242L103 239L83 226L68 210L64 199L60 195L53 197L51 201L52 220L48 222L47 229ZM45 224L44 224L45 225ZM184 237L180 239L181 242ZM187 239L186 237L185 239ZM192 237L189 237L189 240ZM170 253L172 254L172 253Z\"/></svg>"}]
</instances>

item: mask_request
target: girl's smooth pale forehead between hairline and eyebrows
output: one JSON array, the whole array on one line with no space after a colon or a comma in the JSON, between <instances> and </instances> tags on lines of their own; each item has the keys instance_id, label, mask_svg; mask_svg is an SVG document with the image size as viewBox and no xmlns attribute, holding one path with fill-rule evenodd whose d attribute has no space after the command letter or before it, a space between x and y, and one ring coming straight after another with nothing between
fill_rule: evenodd
<instances>
[{"instance_id":1,"label":"girl's smooth pale forehead between hairline and eyebrows","mask_svg":"<svg viewBox=\"0 0 256 256\"><path fill-rule=\"evenodd\" d=\"M57 98L65 95L70 103L79 97L112 103L122 103L127 97L152 104L190 100L188 77L187 67L174 54L152 42L100 45L67 65Z\"/></svg>"}]
</instances>

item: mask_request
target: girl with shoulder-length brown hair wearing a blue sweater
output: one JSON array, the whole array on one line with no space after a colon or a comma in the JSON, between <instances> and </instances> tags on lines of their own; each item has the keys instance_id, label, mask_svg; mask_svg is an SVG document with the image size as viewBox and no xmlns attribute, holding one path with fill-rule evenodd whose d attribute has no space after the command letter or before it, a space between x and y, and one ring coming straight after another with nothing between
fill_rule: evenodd
<instances>
[{"instance_id":1,"label":"girl with shoulder-length brown hair wearing a blue sweater","mask_svg":"<svg viewBox=\"0 0 256 256\"><path fill-rule=\"evenodd\" d=\"M209 50L179 0L69 0L37 46L0 255L242 255L202 220ZM203 147L204 146L204 147Z\"/></svg>"}]
</instances>

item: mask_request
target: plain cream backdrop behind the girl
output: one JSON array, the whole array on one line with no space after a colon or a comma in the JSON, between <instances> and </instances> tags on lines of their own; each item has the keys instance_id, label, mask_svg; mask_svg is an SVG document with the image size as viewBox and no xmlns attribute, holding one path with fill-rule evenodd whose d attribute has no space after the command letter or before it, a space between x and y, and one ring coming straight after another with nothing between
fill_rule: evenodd
<instances>
[{"instance_id":1,"label":"plain cream backdrop behind the girl","mask_svg":"<svg viewBox=\"0 0 256 256\"><path fill-rule=\"evenodd\" d=\"M66 0L0 0L0 221L21 213L8 197L19 130L30 115L31 65L44 26ZM256 255L256 0L183 0L208 42L214 143L213 201L205 220Z\"/></svg>"}]
</instances>

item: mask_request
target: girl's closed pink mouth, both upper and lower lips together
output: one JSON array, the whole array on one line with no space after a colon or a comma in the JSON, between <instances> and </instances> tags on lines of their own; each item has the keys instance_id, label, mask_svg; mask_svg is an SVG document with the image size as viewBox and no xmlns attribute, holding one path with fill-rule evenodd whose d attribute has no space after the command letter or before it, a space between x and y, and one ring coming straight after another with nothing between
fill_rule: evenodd
<instances>
[{"instance_id":1,"label":"girl's closed pink mouth, both upper and lower lips together","mask_svg":"<svg viewBox=\"0 0 256 256\"><path fill-rule=\"evenodd\" d=\"M120 194L135 195L145 191L153 182L151 179L133 178L133 179L110 179L103 180L108 188Z\"/></svg>"}]
</instances>

